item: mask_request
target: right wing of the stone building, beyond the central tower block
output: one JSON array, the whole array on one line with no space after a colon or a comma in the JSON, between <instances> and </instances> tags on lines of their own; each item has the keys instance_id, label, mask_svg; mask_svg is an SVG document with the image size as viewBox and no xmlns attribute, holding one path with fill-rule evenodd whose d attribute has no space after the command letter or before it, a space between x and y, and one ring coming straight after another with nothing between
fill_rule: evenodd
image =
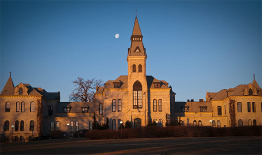
<instances>
[{"instance_id":1,"label":"right wing of the stone building, beyond the central tower block","mask_svg":"<svg viewBox=\"0 0 262 155\"><path fill-rule=\"evenodd\" d=\"M172 118L187 125L262 125L262 89L254 80L219 92L206 92L206 101L176 102Z\"/></svg>"}]
</instances>

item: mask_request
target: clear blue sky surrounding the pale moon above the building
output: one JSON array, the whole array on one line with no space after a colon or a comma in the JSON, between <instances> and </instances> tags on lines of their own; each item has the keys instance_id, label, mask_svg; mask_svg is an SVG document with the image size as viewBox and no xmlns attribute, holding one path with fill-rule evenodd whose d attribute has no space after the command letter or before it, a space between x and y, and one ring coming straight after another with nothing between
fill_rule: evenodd
<instances>
[{"instance_id":1,"label":"clear blue sky surrounding the pale moon above the building","mask_svg":"<svg viewBox=\"0 0 262 155\"><path fill-rule=\"evenodd\" d=\"M1 0L0 89L11 71L15 85L60 91L68 101L78 76L127 75L135 9L146 74L169 82L176 101L248 84L253 74L262 86L261 0Z\"/></svg>"}]
</instances>

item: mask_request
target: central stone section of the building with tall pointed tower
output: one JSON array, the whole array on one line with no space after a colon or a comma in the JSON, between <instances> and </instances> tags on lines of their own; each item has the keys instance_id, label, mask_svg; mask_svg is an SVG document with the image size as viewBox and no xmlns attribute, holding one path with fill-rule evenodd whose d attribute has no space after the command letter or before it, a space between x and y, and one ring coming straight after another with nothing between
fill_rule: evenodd
<instances>
[{"instance_id":1,"label":"central stone section of the building with tall pointed tower","mask_svg":"<svg viewBox=\"0 0 262 155\"><path fill-rule=\"evenodd\" d=\"M157 120L159 126L164 126L166 114L170 117L175 93L165 80L146 76L146 58L143 36L135 17L127 56L128 75L108 80L95 93L96 102L103 106L103 116L110 118L112 129L117 129L121 121L130 121L133 127L138 127Z\"/></svg>"}]
</instances>

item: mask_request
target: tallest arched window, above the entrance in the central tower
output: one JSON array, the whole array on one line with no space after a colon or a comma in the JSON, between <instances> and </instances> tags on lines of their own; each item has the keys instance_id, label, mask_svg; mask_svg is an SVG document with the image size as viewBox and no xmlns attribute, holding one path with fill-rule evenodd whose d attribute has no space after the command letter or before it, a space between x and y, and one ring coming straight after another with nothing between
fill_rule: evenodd
<instances>
[{"instance_id":1,"label":"tallest arched window, above the entrance in the central tower","mask_svg":"<svg viewBox=\"0 0 262 155\"><path fill-rule=\"evenodd\" d=\"M142 84L135 81L133 84L133 109L142 108Z\"/></svg>"}]
</instances>

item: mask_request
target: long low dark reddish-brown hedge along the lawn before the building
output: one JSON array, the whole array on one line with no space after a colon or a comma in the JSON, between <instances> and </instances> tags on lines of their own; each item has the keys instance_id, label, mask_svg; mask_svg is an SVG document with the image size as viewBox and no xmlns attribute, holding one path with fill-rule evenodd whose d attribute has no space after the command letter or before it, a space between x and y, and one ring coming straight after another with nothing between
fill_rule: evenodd
<instances>
[{"instance_id":1,"label":"long low dark reddish-brown hedge along the lawn before the building","mask_svg":"<svg viewBox=\"0 0 262 155\"><path fill-rule=\"evenodd\" d=\"M208 127L208 126L144 126L123 130L91 130L88 139L157 138L157 137L221 137L261 136L262 126Z\"/></svg>"}]
</instances>

